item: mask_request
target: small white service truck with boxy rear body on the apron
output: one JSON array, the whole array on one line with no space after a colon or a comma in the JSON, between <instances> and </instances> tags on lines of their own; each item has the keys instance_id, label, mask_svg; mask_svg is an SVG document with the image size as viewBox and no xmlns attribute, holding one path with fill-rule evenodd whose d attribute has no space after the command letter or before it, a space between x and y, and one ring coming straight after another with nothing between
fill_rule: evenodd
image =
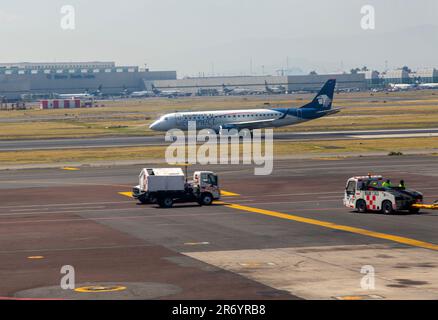
<instances>
[{"instance_id":1,"label":"small white service truck with boxy rear body on the apron","mask_svg":"<svg viewBox=\"0 0 438 320\"><path fill-rule=\"evenodd\" d=\"M181 168L145 168L132 195L141 203L157 203L170 208L174 202L197 202L208 206L220 199L218 176L211 171L196 171L187 181Z\"/></svg>"}]
</instances>

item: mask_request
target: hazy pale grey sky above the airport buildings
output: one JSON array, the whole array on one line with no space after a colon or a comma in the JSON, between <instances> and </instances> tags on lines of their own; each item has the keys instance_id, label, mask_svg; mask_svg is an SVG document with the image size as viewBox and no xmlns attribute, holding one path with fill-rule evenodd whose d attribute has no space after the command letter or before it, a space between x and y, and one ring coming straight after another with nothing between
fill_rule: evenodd
<instances>
[{"instance_id":1,"label":"hazy pale grey sky above the airport buildings","mask_svg":"<svg viewBox=\"0 0 438 320\"><path fill-rule=\"evenodd\" d=\"M179 77L438 67L436 0L0 0L1 62L110 60ZM376 29L360 27L363 5ZM63 5L76 29L60 27ZM387 61L387 62L385 62Z\"/></svg>"}]
</instances>

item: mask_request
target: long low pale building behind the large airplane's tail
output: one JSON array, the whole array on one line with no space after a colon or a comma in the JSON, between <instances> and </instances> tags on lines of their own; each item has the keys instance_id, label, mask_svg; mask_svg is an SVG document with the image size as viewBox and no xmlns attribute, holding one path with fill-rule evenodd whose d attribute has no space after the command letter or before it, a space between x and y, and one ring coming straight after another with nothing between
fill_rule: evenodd
<instances>
[{"instance_id":1,"label":"long low pale building behind the large airplane's tail","mask_svg":"<svg viewBox=\"0 0 438 320\"><path fill-rule=\"evenodd\" d=\"M225 85L231 88L248 88L264 90L265 81L269 86L283 85L288 92L316 91L328 79L337 79L337 89L366 89L367 82L364 74L325 74L325 75L299 75L299 76L234 76L234 77L200 77L178 80L155 80L154 85L161 89L176 89L196 93L200 88L221 90ZM151 82L146 81L145 86L150 87Z\"/></svg>"}]
</instances>

